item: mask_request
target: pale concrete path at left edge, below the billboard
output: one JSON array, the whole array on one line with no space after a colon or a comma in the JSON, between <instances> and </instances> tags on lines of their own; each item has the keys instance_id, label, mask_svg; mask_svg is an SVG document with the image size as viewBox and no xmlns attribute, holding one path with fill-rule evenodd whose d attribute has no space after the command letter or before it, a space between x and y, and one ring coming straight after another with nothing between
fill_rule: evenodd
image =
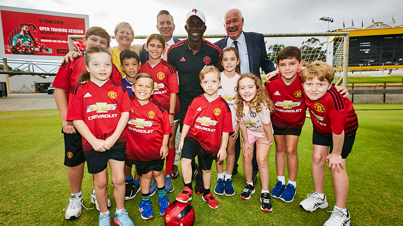
<instances>
[{"instance_id":1,"label":"pale concrete path at left edge, below the billboard","mask_svg":"<svg viewBox=\"0 0 403 226\"><path fill-rule=\"evenodd\" d=\"M0 111L57 109L53 94L11 93L0 97Z\"/></svg>"}]
</instances>

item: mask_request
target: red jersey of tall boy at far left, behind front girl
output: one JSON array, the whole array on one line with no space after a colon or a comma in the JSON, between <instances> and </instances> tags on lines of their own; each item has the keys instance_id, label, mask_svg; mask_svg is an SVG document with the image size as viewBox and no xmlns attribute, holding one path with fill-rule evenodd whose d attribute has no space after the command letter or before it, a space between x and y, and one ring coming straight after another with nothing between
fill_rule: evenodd
<instances>
[{"instance_id":1,"label":"red jersey of tall boy at far left, behind front girl","mask_svg":"<svg viewBox=\"0 0 403 226\"><path fill-rule=\"evenodd\" d=\"M78 84L80 75L85 71L84 55L80 55L70 62L64 62L59 67L56 77L53 81L53 86L60 89L66 89L67 101L69 101L70 91L73 86ZM111 79L115 83L122 83L122 76L116 67L112 65Z\"/></svg>"}]
</instances>

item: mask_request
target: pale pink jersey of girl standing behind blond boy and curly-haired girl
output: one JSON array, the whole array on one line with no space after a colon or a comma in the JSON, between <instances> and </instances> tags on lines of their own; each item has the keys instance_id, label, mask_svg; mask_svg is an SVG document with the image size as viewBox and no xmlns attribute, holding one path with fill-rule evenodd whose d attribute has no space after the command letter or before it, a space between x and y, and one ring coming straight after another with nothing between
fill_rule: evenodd
<instances>
[{"instance_id":1,"label":"pale pink jersey of girl standing behind blond boy and curly-haired girl","mask_svg":"<svg viewBox=\"0 0 403 226\"><path fill-rule=\"evenodd\" d=\"M224 72L221 72L221 86L218 88L218 95L220 95L225 101L227 101L228 105L231 109L232 116L232 128L235 128L237 121L235 120L235 108L234 102L236 97L236 85L238 82L240 75L236 74L233 78L228 78Z\"/></svg>"}]
</instances>

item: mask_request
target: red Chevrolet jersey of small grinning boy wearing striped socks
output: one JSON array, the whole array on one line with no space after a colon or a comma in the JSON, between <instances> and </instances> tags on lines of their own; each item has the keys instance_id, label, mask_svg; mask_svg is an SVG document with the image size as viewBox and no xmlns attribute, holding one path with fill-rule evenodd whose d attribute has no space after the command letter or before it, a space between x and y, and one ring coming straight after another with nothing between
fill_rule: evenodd
<instances>
[{"instance_id":1,"label":"red Chevrolet jersey of small grinning boy wearing striped socks","mask_svg":"<svg viewBox=\"0 0 403 226\"><path fill-rule=\"evenodd\" d=\"M126 126L126 162L151 165L164 161L160 149L163 136L170 134L168 111L158 101L141 105L135 96L129 96L131 112Z\"/></svg>"}]
</instances>

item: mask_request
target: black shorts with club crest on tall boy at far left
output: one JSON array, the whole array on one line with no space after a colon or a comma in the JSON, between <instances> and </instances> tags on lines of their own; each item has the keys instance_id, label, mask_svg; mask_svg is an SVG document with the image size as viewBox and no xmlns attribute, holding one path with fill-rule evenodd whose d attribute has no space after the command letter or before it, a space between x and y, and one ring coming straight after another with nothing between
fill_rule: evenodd
<instances>
[{"instance_id":1,"label":"black shorts with club crest on tall boy at far left","mask_svg":"<svg viewBox=\"0 0 403 226\"><path fill-rule=\"evenodd\" d=\"M61 133L64 136L64 165L74 167L85 162L81 134L78 131L73 134L63 133L63 129Z\"/></svg>"}]
</instances>

